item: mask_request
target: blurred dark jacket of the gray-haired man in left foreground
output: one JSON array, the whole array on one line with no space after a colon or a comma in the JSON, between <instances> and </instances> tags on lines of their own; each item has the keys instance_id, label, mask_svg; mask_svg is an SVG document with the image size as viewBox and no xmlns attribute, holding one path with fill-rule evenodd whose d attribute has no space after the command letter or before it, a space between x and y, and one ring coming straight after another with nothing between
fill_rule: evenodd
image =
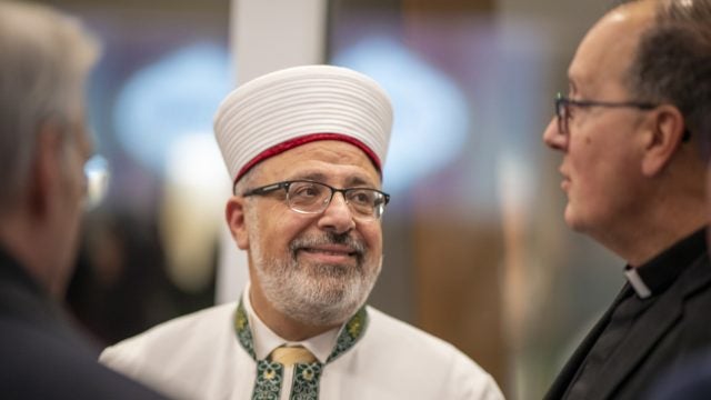
<instances>
[{"instance_id":1,"label":"blurred dark jacket of the gray-haired man in left foreground","mask_svg":"<svg viewBox=\"0 0 711 400\"><path fill-rule=\"evenodd\" d=\"M59 306L0 249L0 398L163 399L97 359Z\"/></svg>"}]
</instances>

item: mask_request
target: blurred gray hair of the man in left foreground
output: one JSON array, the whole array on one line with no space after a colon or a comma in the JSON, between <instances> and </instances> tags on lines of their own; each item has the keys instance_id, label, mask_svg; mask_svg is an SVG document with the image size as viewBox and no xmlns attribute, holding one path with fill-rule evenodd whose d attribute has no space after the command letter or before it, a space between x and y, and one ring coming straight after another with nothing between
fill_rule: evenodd
<instances>
[{"instance_id":1,"label":"blurred gray hair of the man in left foreground","mask_svg":"<svg viewBox=\"0 0 711 400\"><path fill-rule=\"evenodd\" d=\"M47 6L0 0L0 210L27 184L40 126L82 106L99 58L80 22Z\"/></svg>"}]
</instances>

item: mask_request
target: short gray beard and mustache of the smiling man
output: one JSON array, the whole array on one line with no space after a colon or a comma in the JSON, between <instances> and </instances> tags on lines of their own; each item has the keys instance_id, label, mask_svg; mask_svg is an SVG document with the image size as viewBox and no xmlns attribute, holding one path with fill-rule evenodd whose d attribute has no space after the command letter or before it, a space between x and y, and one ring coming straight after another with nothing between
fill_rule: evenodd
<instances>
[{"instance_id":1,"label":"short gray beard and mustache of the smiling man","mask_svg":"<svg viewBox=\"0 0 711 400\"><path fill-rule=\"evenodd\" d=\"M377 266L365 266L365 247L350 234L297 238L289 246L290 257L281 259L264 257L258 237L250 238L250 243L254 271L267 300L282 314L309 326L346 322L365 303L382 267L382 258ZM299 249L327 243L356 249L356 267L298 262Z\"/></svg>"}]
</instances>

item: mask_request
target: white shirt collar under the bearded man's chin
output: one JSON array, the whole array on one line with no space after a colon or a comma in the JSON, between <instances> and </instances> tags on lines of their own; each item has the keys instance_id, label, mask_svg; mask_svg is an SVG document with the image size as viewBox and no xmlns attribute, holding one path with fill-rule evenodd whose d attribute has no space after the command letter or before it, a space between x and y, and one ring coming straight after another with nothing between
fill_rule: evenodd
<instances>
[{"instance_id":1,"label":"white shirt collar under the bearded man's chin","mask_svg":"<svg viewBox=\"0 0 711 400\"><path fill-rule=\"evenodd\" d=\"M272 331L269 327L267 327L267 324L262 322L262 320L257 316L254 309L252 309L252 303L249 299L250 287L251 284L248 282L247 287L244 288L244 292L242 293L242 303L244 304L247 319L252 330L252 339L254 341L252 346L254 347L254 354L257 356L257 359L263 360L276 348L282 344L288 344L303 346L306 349L311 351L311 353L316 356L316 358L321 363L326 363L329 356L331 356L333 348L336 347L340 327L333 328L319 336L302 341L289 341L287 339L283 339L279 334L274 333L274 331Z\"/></svg>"}]
</instances>

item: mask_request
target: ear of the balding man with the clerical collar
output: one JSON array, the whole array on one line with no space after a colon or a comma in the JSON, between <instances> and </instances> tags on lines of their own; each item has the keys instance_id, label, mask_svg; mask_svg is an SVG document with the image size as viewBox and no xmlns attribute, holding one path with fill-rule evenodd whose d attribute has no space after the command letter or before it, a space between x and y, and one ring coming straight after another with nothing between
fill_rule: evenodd
<instances>
[{"instance_id":1,"label":"ear of the balding man with the clerical collar","mask_svg":"<svg viewBox=\"0 0 711 400\"><path fill-rule=\"evenodd\" d=\"M661 172L681 146L684 136L684 118L673 106L660 106L650 111L647 122L649 136L642 159L642 173L652 177Z\"/></svg>"}]
</instances>

